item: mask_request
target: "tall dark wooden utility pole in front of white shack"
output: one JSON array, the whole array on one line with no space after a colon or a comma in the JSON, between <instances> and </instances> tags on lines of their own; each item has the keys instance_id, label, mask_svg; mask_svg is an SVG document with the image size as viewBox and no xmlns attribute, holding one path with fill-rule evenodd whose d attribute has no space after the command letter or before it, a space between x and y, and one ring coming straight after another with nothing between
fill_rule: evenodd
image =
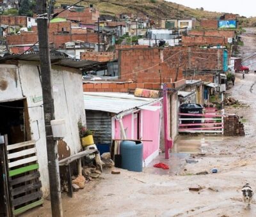
<instances>
[{"instance_id":1,"label":"tall dark wooden utility pole in front of white shack","mask_svg":"<svg viewBox=\"0 0 256 217\"><path fill-rule=\"evenodd\" d=\"M52 136L51 120L54 119L54 101L52 97L51 59L49 52L47 0L37 0L37 29L40 50L40 69L44 103L45 136L51 191L52 216L63 216L60 189L60 168L56 141Z\"/></svg>"}]
</instances>

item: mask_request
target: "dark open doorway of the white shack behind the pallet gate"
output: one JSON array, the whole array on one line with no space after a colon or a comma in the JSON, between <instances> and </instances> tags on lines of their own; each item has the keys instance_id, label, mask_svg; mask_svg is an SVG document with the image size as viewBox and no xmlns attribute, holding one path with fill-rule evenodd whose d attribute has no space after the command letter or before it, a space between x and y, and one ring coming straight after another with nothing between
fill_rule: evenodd
<instances>
[{"instance_id":1,"label":"dark open doorway of the white shack behind the pallet gate","mask_svg":"<svg viewBox=\"0 0 256 217\"><path fill-rule=\"evenodd\" d=\"M26 99L5 101L0 103L0 136L5 135L4 144L0 144L0 216L8 216L6 213L10 209L6 205L8 201L8 188L6 186L7 161L6 145L17 144L30 140L30 128L28 118L28 105Z\"/></svg>"}]
</instances>

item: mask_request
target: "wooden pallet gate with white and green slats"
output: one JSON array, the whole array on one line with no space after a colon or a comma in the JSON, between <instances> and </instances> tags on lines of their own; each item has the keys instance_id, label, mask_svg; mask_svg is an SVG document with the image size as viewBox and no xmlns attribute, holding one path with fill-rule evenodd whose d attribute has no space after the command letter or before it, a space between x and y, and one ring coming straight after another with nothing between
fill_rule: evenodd
<instances>
[{"instance_id":1,"label":"wooden pallet gate with white and green slats","mask_svg":"<svg viewBox=\"0 0 256 217\"><path fill-rule=\"evenodd\" d=\"M6 146L13 215L43 204L35 141Z\"/></svg>"}]
</instances>

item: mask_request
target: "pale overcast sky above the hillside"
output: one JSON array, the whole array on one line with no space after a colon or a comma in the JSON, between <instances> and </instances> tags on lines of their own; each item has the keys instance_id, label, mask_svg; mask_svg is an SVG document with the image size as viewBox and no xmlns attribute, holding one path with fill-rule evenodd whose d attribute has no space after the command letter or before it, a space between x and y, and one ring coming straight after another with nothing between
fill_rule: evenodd
<instances>
[{"instance_id":1,"label":"pale overcast sky above the hillside","mask_svg":"<svg viewBox=\"0 0 256 217\"><path fill-rule=\"evenodd\" d=\"M189 8L201 8L207 11L238 13L246 17L256 17L256 0L166 0L183 4Z\"/></svg>"}]
</instances>

